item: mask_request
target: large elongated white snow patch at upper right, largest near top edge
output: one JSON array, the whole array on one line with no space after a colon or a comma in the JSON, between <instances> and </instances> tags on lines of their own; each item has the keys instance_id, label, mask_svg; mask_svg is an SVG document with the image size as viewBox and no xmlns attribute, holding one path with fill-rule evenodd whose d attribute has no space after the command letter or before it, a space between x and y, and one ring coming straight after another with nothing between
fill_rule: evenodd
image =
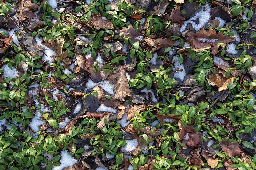
<instances>
[{"instance_id":1,"label":"large elongated white snow patch at upper right, largest near top edge","mask_svg":"<svg viewBox=\"0 0 256 170\"><path fill-rule=\"evenodd\" d=\"M204 6L202 6L201 11L196 13L196 15L194 15L189 20L184 21L184 24L181 25L180 31L181 32L184 31L188 23L190 23L196 31L200 30L211 19L210 11L211 11L211 7L207 2ZM199 22L198 24L197 24L197 20Z\"/></svg>"}]
</instances>

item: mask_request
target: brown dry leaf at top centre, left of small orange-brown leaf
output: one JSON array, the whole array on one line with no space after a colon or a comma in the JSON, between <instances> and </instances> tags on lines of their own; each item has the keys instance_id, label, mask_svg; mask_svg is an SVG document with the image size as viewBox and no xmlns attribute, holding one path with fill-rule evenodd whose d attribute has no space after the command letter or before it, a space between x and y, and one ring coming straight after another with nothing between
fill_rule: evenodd
<instances>
[{"instance_id":1,"label":"brown dry leaf at top centre, left of small orange-brown leaf","mask_svg":"<svg viewBox=\"0 0 256 170\"><path fill-rule=\"evenodd\" d=\"M94 28L98 30L101 28L114 29L113 24L109 21L103 20L100 14L91 13L91 23Z\"/></svg>"}]
</instances>

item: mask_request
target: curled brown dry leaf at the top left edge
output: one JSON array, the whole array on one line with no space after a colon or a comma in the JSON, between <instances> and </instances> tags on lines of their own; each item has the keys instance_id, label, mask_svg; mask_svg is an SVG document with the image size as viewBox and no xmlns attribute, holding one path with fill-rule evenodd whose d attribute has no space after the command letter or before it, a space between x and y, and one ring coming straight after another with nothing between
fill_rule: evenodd
<instances>
[{"instance_id":1,"label":"curled brown dry leaf at the top left edge","mask_svg":"<svg viewBox=\"0 0 256 170\"><path fill-rule=\"evenodd\" d=\"M18 10L17 10L17 12L19 13L18 17L19 17L20 21L24 21L24 20L26 20L26 18L28 18L28 19L35 18L36 16L35 16L34 12L29 11L32 9L37 10L38 5L35 3L32 3L31 0L22 0L18 7Z\"/></svg>"}]
</instances>

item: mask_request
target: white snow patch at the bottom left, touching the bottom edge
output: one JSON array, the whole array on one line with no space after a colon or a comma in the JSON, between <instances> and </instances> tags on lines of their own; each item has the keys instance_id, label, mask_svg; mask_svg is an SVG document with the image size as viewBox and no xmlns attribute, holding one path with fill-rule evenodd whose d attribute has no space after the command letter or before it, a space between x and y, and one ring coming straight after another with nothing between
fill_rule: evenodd
<instances>
[{"instance_id":1,"label":"white snow patch at the bottom left, touching the bottom edge","mask_svg":"<svg viewBox=\"0 0 256 170\"><path fill-rule=\"evenodd\" d=\"M60 153L61 159L60 159L60 165L54 166L52 170L62 170L67 167L72 167L76 163L78 163L78 160L73 158L68 154L68 150L61 151Z\"/></svg>"}]
</instances>

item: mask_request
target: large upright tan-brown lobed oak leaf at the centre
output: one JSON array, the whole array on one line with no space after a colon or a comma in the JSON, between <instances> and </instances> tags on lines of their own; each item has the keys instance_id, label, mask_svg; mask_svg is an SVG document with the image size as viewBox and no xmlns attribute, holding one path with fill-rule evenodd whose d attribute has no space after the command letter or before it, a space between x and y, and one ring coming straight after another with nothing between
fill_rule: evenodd
<instances>
[{"instance_id":1,"label":"large upright tan-brown lobed oak leaf at the centre","mask_svg":"<svg viewBox=\"0 0 256 170\"><path fill-rule=\"evenodd\" d=\"M130 86L126 77L126 69L126 66L120 65L116 68L114 73L108 76L109 82L115 85L115 98L120 101L125 101L127 96L131 96Z\"/></svg>"}]
</instances>

